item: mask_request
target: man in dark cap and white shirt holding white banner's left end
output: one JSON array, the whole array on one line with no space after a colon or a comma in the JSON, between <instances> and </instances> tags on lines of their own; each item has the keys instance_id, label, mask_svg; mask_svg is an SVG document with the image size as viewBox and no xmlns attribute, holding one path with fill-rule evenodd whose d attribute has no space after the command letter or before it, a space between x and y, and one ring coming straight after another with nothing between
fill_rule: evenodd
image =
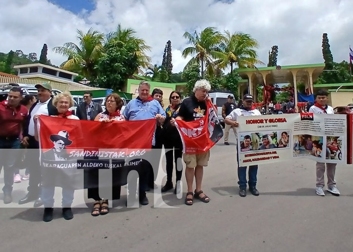
<instances>
[{"instance_id":1,"label":"man in dark cap and white shirt holding white banner's left end","mask_svg":"<svg viewBox=\"0 0 353 252\"><path fill-rule=\"evenodd\" d=\"M238 116L252 116L252 115L261 115L260 111L257 109L251 109L253 106L254 98L251 94L246 94L243 97L243 105L239 108L234 109L233 111L228 114L224 122L228 125L232 125L233 127L238 127L239 123L237 121ZM247 196L247 166L239 166L239 148L237 145L237 152L238 152L238 184L239 184L239 195L241 197ZM259 191L256 188L257 182L257 165L250 165L249 166L249 191L255 195L259 196Z\"/></svg>"}]
</instances>

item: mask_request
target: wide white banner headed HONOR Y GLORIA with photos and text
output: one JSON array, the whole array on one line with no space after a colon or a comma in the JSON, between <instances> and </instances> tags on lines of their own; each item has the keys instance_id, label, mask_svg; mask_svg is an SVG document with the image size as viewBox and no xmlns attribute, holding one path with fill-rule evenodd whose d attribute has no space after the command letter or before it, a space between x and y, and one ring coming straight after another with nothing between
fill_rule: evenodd
<instances>
[{"instance_id":1,"label":"wide white banner headed HONOR Y GLORIA with photos and text","mask_svg":"<svg viewBox=\"0 0 353 252\"><path fill-rule=\"evenodd\" d=\"M240 166L307 157L347 163L345 114L296 113L238 117Z\"/></svg>"}]
</instances>

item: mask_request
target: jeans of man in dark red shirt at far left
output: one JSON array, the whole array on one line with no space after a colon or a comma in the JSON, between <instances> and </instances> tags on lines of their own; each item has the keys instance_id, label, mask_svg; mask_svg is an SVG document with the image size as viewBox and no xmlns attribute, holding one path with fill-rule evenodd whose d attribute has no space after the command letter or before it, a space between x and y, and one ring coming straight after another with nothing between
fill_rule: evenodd
<instances>
[{"instance_id":1,"label":"jeans of man in dark red shirt at far left","mask_svg":"<svg viewBox=\"0 0 353 252\"><path fill-rule=\"evenodd\" d=\"M16 149L20 148L20 139L5 140L0 138L0 172L4 167L4 193L12 192L12 185L14 184L14 171L15 163L18 159L19 151Z\"/></svg>"}]
</instances>

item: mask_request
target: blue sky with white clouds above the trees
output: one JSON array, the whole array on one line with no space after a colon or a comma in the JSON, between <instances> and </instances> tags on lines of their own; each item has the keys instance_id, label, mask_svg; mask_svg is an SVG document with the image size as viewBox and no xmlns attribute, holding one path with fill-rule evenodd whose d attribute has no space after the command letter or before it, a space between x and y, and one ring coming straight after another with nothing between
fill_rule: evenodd
<instances>
[{"instance_id":1,"label":"blue sky with white clouds above the trees","mask_svg":"<svg viewBox=\"0 0 353 252\"><path fill-rule=\"evenodd\" d=\"M208 26L219 31L242 31L259 42L259 59L268 63L268 50L278 45L281 66L323 63L322 34L327 33L334 61L349 59L353 47L352 0L2 0L0 52L21 49L36 52L44 43L48 58L60 65L65 57L55 46L75 42L77 29L102 33L118 24L132 28L152 50L152 64L160 65L166 42L171 40L173 73L190 60L185 31ZM257 67L265 67L258 65Z\"/></svg>"}]
</instances>

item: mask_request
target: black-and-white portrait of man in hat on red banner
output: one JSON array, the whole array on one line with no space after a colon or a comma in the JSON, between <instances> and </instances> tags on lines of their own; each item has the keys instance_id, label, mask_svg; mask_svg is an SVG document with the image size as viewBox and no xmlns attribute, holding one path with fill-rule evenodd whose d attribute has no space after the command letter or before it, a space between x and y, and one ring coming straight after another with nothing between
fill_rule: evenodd
<instances>
[{"instance_id":1,"label":"black-and-white portrait of man in hat on red banner","mask_svg":"<svg viewBox=\"0 0 353 252\"><path fill-rule=\"evenodd\" d=\"M66 146L72 144L67 131L60 131L56 135L50 135L50 141L54 144L53 148L43 153L44 160L65 161L69 154L66 152Z\"/></svg>"}]
</instances>

